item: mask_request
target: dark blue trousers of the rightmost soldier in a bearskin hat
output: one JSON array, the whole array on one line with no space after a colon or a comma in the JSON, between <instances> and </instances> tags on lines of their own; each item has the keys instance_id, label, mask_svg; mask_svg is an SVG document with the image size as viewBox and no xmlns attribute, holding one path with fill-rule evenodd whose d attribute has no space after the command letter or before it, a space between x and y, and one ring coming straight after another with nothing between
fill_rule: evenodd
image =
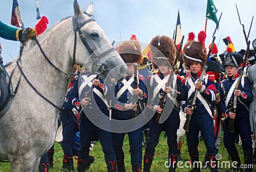
<instances>
[{"instance_id":1,"label":"dark blue trousers of the rightmost soldier in a bearskin hat","mask_svg":"<svg viewBox=\"0 0 256 172\"><path fill-rule=\"evenodd\" d=\"M190 156L198 157L199 132L201 132L204 139L208 154L210 156L215 156L217 154L217 149L214 139L213 119L208 113L200 114L195 109L191 115L190 130L189 132L186 132Z\"/></svg>"}]
</instances>

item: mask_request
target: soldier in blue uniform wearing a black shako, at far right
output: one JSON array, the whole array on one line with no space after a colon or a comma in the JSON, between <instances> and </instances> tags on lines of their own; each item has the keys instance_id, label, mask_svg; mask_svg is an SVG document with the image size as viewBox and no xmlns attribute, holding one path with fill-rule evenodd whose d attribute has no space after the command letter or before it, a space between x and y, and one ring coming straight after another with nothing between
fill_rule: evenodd
<instances>
[{"instance_id":1,"label":"soldier in blue uniform wearing a black shako, at far right","mask_svg":"<svg viewBox=\"0 0 256 172\"><path fill-rule=\"evenodd\" d=\"M224 79L219 86L220 91L220 103L218 107L221 109L222 116L225 117L224 121L224 146L227 149L228 155L230 155L232 161L236 161L236 168L234 170L241 169L241 160L239 158L239 153L235 145L235 140L237 134L241 136L243 151L244 151L244 163L252 164L252 137L251 128L249 120L249 106L252 102L252 88L247 77L242 77L241 84L239 85L239 90L235 90L235 86L239 77L238 68L239 64L243 61L243 58L237 52L228 52L225 59L225 69L227 72L227 77ZM233 106L234 96L237 96L237 107L236 113L230 111L231 106ZM234 119L234 132L230 132L228 129L228 124L230 119ZM252 171L252 169L247 168L245 171Z\"/></svg>"}]
</instances>

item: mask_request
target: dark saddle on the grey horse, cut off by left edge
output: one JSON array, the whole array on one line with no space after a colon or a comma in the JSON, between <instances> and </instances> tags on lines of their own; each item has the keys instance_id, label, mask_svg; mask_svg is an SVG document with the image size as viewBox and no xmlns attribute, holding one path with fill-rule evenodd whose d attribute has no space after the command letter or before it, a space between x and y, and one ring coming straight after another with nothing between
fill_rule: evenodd
<instances>
[{"instance_id":1,"label":"dark saddle on the grey horse, cut off by left edge","mask_svg":"<svg viewBox=\"0 0 256 172\"><path fill-rule=\"evenodd\" d=\"M9 109L12 101L10 82L8 80L8 74L3 65L0 64L0 118Z\"/></svg>"}]
</instances>

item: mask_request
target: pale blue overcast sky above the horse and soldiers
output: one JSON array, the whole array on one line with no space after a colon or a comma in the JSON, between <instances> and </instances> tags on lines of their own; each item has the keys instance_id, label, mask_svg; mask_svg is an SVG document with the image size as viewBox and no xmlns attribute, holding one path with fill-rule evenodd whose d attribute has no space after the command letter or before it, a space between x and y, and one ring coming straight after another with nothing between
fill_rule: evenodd
<instances>
[{"instance_id":1,"label":"pale blue overcast sky above the horse and soldiers","mask_svg":"<svg viewBox=\"0 0 256 172\"><path fill-rule=\"evenodd\" d=\"M173 37L173 30L177 20L177 12L180 10L180 23L182 35L185 36L184 44L188 39L188 33L193 31L197 35L205 27L205 12L207 0L78 0L80 6L86 10L90 2L93 2L94 16L100 27L105 31L109 42L127 40L135 34L141 42L149 43L156 35ZM18 0L20 13L25 27L35 27L36 6L35 0ZM41 17L45 15L49 19L48 28L59 20L74 15L72 0L38 0ZM222 39L230 36L236 51L246 49L243 36L243 28L239 24L236 12L236 4L240 13L241 22L244 24L246 34L250 27L252 16L256 15L255 0L214 0L218 9L217 17L223 12L219 30L216 33L216 44L219 52L226 47ZM0 20L10 25L12 1L2 1L0 5ZM255 19L256 20L256 19ZM252 30L249 36L251 42L256 38L256 21L253 20ZM207 22L205 46L212 41L212 33L215 23ZM121 36L120 36L121 35ZM220 43L219 43L220 42ZM0 38L4 63L12 61L19 54L19 42L13 42ZM218 44L219 43L219 44ZM252 46L251 46L252 48Z\"/></svg>"}]
</instances>

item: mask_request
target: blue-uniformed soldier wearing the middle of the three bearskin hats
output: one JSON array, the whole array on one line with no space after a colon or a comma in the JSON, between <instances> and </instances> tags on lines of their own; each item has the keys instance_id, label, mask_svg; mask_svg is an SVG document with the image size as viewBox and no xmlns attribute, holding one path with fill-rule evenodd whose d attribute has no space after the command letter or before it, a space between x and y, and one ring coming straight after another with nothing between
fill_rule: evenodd
<instances>
[{"instance_id":1,"label":"blue-uniformed soldier wearing the middle of the three bearskin hats","mask_svg":"<svg viewBox=\"0 0 256 172\"><path fill-rule=\"evenodd\" d=\"M166 130L168 143L168 160L170 162L169 171L175 171L177 168L177 130L179 129L180 117L177 100L185 98L182 88L181 77L171 72L173 61L175 58L175 45L173 40L168 36L156 36L150 42L150 54L152 57L152 66L158 70L147 78L148 83L148 107L152 107L156 111L153 118L150 120L150 140L145 150L143 171L150 171L156 146L159 143L159 136L163 129ZM168 78L172 77L171 86L166 86ZM157 115L163 112L159 106L159 100L164 91L167 93L166 102L172 104L173 109L169 109L170 105L166 105L164 110L168 111L168 117L163 123L159 124ZM163 115L163 114L162 114Z\"/></svg>"}]
</instances>

